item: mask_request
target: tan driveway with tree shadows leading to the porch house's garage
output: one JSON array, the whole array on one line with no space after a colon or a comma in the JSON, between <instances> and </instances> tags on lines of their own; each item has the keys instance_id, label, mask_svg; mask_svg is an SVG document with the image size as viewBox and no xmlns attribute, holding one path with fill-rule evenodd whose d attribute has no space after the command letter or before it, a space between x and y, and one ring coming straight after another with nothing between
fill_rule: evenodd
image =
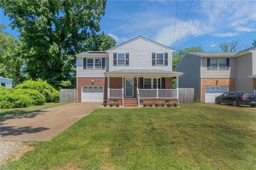
<instances>
[{"instance_id":1,"label":"tan driveway with tree shadows leading to the porch house's garage","mask_svg":"<svg viewBox=\"0 0 256 170\"><path fill-rule=\"evenodd\" d=\"M1 140L50 141L101 103L71 103L39 112L1 119Z\"/></svg>"}]
</instances>

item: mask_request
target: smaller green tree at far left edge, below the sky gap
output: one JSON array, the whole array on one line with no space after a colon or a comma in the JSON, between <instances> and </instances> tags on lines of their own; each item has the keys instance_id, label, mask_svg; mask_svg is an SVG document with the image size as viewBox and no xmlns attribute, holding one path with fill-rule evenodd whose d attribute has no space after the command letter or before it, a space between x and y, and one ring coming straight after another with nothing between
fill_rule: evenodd
<instances>
[{"instance_id":1,"label":"smaller green tree at far left edge, below the sky gap","mask_svg":"<svg viewBox=\"0 0 256 170\"><path fill-rule=\"evenodd\" d=\"M12 78L13 84L16 85L28 78L23 72L21 42L5 32L6 27L2 24L0 28L0 76Z\"/></svg>"}]
</instances>

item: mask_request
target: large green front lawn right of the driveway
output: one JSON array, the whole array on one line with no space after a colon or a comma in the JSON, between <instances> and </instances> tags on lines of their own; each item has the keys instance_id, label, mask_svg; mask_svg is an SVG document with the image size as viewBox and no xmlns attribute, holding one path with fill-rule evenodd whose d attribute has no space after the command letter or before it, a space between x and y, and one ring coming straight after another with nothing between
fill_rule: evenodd
<instances>
[{"instance_id":1,"label":"large green front lawn right of the driveway","mask_svg":"<svg viewBox=\"0 0 256 170\"><path fill-rule=\"evenodd\" d=\"M14 169L255 169L256 113L206 104L97 109Z\"/></svg>"}]
</instances>

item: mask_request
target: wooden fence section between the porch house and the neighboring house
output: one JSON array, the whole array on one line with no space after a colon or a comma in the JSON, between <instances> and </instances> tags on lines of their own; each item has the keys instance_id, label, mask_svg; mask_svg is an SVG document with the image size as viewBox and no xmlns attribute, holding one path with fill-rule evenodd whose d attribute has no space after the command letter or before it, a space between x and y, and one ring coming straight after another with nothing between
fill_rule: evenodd
<instances>
[{"instance_id":1,"label":"wooden fence section between the porch house and the neighboring house","mask_svg":"<svg viewBox=\"0 0 256 170\"><path fill-rule=\"evenodd\" d=\"M194 103L194 88L179 88L179 103Z\"/></svg>"}]
</instances>

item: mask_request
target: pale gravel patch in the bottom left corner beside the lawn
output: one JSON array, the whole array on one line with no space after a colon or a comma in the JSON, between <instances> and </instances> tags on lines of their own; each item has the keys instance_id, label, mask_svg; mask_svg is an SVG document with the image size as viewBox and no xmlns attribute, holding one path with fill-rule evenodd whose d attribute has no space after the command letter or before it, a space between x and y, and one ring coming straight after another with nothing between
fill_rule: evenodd
<instances>
[{"instance_id":1,"label":"pale gravel patch in the bottom left corner beside the lawn","mask_svg":"<svg viewBox=\"0 0 256 170\"><path fill-rule=\"evenodd\" d=\"M1 141L0 143L0 165L7 162L17 161L21 156L32 151L34 148L31 143L23 143L19 141Z\"/></svg>"}]
</instances>

